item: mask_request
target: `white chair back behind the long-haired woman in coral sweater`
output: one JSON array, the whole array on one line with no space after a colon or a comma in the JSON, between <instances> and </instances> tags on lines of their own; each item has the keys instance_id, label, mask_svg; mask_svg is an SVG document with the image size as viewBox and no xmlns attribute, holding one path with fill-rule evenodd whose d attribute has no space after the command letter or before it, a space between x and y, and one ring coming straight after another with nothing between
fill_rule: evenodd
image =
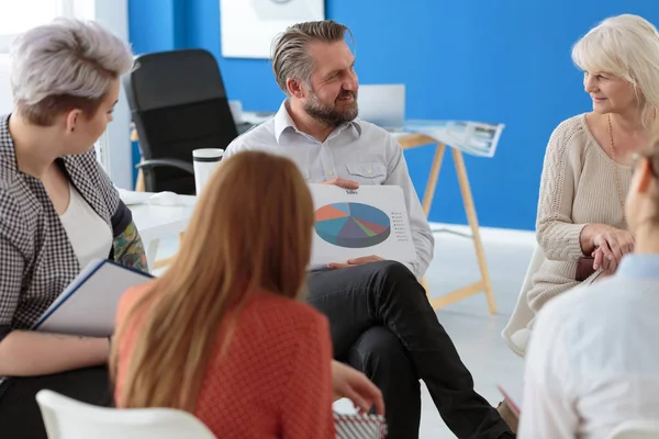
<instances>
[{"instance_id":1,"label":"white chair back behind the long-haired woman in coral sweater","mask_svg":"<svg viewBox=\"0 0 659 439\"><path fill-rule=\"evenodd\" d=\"M53 391L36 394L48 439L216 439L194 416L171 408L109 408Z\"/></svg>"}]
</instances>

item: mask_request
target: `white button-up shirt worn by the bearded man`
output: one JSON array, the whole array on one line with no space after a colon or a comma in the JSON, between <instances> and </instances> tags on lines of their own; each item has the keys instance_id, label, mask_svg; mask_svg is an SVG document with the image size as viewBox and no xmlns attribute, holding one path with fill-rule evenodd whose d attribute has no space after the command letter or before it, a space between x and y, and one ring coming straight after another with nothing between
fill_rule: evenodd
<instances>
[{"instance_id":1,"label":"white button-up shirt worn by the bearded man","mask_svg":"<svg viewBox=\"0 0 659 439\"><path fill-rule=\"evenodd\" d=\"M403 150L387 131L356 119L336 127L322 143L298 131L284 101L275 117L232 142L224 159L243 150L288 157L309 183L343 178L359 184L400 185L416 248L416 261L407 267L416 278L423 277L433 258L435 240L407 173Z\"/></svg>"}]
</instances>

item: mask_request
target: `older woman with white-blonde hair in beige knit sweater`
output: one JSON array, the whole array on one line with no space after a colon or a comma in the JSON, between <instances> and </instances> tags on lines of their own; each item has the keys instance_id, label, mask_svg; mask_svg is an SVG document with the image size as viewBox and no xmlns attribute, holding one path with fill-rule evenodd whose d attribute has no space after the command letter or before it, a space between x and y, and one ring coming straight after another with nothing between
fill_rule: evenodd
<instances>
[{"instance_id":1,"label":"older woman with white-blonde hair in beige knit sweater","mask_svg":"<svg viewBox=\"0 0 659 439\"><path fill-rule=\"evenodd\" d=\"M645 19L604 20L574 45L572 59L593 111L560 123L547 147L537 216L546 261L528 292L536 313L580 282L615 272L634 249L624 194L659 104L659 34ZM580 278L579 263L592 273Z\"/></svg>"}]
</instances>

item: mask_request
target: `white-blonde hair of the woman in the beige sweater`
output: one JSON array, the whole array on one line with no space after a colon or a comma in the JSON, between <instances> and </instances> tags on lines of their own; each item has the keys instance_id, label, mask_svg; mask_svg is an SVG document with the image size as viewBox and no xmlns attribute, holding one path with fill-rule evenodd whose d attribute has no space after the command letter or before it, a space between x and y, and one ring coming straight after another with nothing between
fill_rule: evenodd
<instances>
[{"instance_id":1,"label":"white-blonde hair of the woman in the beige sweater","mask_svg":"<svg viewBox=\"0 0 659 439\"><path fill-rule=\"evenodd\" d=\"M629 81L646 109L659 106L659 33L638 15L608 18L572 47L572 60L589 72Z\"/></svg>"}]
</instances>

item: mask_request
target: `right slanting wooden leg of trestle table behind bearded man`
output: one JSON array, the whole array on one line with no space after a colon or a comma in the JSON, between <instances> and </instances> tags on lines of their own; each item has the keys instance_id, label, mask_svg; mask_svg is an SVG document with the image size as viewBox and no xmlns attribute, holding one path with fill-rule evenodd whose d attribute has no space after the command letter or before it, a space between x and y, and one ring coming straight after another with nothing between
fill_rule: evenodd
<instances>
[{"instance_id":1,"label":"right slanting wooden leg of trestle table behind bearded man","mask_svg":"<svg viewBox=\"0 0 659 439\"><path fill-rule=\"evenodd\" d=\"M462 157L462 151L460 151L458 148L451 148L451 150L456 165L456 172L458 175L458 182L460 183L460 192L462 193L462 202L465 203L465 211L467 213L467 221L469 222L471 234L473 235L473 246L476 247L476 256L481 272L483 290L485 291L485 296L488 297L488 307L490 308L490 314L495 314L496 305L494 303L494 293L492 292L492 281L490 280L490 272L488 271L488 262L485 260L485 251L483 249L483 243L478 228L478 217L476 215L473 198L471 196L471 188L469 187L469 178L467 177L465 158Z\"/></svg>"}]
</instances>

